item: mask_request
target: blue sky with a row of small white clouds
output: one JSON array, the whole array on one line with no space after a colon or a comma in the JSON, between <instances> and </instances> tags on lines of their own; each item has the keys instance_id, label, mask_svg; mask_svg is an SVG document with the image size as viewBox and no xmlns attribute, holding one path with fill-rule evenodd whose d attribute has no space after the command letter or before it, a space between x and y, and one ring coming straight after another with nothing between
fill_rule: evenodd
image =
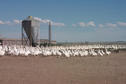
<instances>
[{"instance_id":1,"label":"blue sky with a row of small white clouds","mask_svg":"<svg viewBox=\"0 0 126 84\"><path fill-rule=\"evenodd\" d=\"M41 38L64 42L126 41L126 0L0 0L0 37L20 38L20 20L41 21Z\"/></svg>"}]
</instances>

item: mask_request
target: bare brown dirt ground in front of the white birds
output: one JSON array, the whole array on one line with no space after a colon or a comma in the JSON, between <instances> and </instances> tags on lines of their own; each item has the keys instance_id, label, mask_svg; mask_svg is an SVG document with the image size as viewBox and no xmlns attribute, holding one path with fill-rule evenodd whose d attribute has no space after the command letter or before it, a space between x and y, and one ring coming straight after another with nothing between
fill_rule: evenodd
<instances>
[{"instance_id":1,"label":"bare brown dirt ground in front of the white birds","mask_svg":"<svg viewBox=\"0 0 126 84\"><path fill-rule=\"evenodd\" d=\"M126 52L96 57L0 57L0 84L126 84Z\"/></svg>"}]
</instances>

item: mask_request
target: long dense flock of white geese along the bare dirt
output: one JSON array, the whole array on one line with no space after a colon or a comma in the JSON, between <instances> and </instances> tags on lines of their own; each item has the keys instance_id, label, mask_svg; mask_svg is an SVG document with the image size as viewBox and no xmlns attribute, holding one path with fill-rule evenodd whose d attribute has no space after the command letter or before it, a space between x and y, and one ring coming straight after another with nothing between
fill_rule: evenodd
<instances>
[{"instance_id":1,"label":"long dense flock of white geese along the bare dirt","mask_svg":"<svg viewBox=\"0 0 126 84\"><path fill-rule=\"evenodd\" d=\"M50 47L29 47L29 46L1 46L0 56L103 56L110 55L110 49L123 49L122 45L78 45L78 46L50 46Z\"/></svg>"}]
</instances>

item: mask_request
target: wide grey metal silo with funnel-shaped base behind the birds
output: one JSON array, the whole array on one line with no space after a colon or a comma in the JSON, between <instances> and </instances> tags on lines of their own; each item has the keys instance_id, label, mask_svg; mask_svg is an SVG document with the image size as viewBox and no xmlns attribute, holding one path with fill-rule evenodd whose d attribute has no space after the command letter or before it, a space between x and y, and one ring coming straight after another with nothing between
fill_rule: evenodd
<instances>
[{"instance_id":1,"label":"wide grey metal silo with funnel-shaped base behind the birds","mask_svg":"<svg viewBox=\"0 0 126 84\"><path fill-rule=\"evenodd\" d=\"M29 45L36 46L39 42L40 22L32 16L22 21L22 29L25 31L29 40Z\"/></svg>"}]
</instances>

